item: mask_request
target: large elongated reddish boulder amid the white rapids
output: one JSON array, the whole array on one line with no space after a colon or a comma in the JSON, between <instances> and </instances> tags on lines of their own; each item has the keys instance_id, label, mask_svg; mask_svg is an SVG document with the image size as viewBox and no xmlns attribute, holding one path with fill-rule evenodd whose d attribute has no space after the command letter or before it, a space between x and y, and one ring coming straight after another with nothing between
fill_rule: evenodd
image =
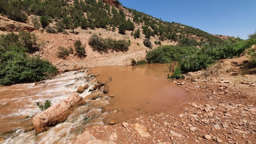
<instances>
[{"instance_id":1,"label":"large elongated reddish boulder amid the white rapids","mask_svg":"<svg viewBox=\"0 0 256 144\"><path fill-rule=\"evenodd\" d=\"M47 110L41 112L33 118L34 128L39 134L49 127L55 126L58 123L64 122L71 110L83 103L83 98L78 93L70 95L66 100L61 101Z\"/></svg>"}]
</instances>

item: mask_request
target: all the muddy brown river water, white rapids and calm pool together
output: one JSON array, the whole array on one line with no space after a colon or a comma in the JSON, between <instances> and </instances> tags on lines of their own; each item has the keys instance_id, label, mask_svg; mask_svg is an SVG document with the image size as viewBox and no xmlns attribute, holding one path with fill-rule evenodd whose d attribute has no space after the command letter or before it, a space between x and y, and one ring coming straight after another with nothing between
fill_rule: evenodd
<instances>
[{"instance_id":1,"label":"all the muddy brown river water, white rapids and calm pool together","mask_svg":"<svg viewBox=\"0 0 256 144\"><path fill-rule=\"evenodd\" d=\"M2 143L70 143L91 124L106 124L109 119L118 122L138 116L144 112L166 110L184 101L184 89L177 87L167 79L165 65L147 64L128 67L97 67L85 72L65 72L44 83L16 84L0 87L0 137ZM80 96L90 95L96 80L86 81L90 74L98 74L96 80L108 82L108 96L87 102L72 111L64 123L36 135L35 131L25 132L24 128L32 125L34 115L40 113L36 101L50 99L55 105L76 92L80 85L91 84ZM97 94L93 92L94 94ZM108 95L108 94L107 94ZM89 97L89 96L88 96ZM110 99L110 100L109 100ZM0 142L1 143L1 142Z\"/></svg>"}]
</instances>

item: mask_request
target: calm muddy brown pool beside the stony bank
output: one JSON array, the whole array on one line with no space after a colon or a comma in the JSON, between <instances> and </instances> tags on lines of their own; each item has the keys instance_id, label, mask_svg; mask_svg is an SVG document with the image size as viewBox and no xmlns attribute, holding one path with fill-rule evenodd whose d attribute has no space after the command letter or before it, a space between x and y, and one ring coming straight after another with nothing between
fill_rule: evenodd
<instances>
[{"instance_id":1,"label":"calm muddy brown pool beside the stony bank","mask_svg":"<svg viewBox=\"0 0 256 144\"><path fill-rule=\"evenodd\" d=\"M174 85L173 80L167 79L170 72L166 71L165 64L92 68L91 73L99 74L97 80L106 82L112 77L107 85L109 94L114 97L110 104L103 107L103 111L118 112L106 116L105 121L115 119L122 122L144 112L167 110L177 101L185 101L186 92Z\"/></svg>"}]
</instances>

